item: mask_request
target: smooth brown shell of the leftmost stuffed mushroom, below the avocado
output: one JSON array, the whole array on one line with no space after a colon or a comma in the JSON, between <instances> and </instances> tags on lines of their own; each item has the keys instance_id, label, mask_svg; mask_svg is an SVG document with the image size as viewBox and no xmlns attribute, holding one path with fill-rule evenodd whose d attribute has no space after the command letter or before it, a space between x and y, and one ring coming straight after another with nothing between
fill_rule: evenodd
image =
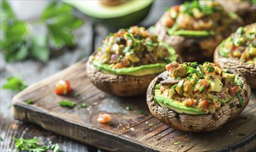
<instances>
[{"instance_id":1,"label":"smooth brown shell of the leftmost stuffed mushroom, below the avocado","mask_svg":"<svg viewBox=\"0 0 256 152\"><path fill-rule=\"evenodd\" d=\"M120 97L132 97L146 93L148 84L159 74L143 76L105 74L89 60L86 64L86 70L87 76L94 86L101 91Z\"/></svg>"}]
</instances>

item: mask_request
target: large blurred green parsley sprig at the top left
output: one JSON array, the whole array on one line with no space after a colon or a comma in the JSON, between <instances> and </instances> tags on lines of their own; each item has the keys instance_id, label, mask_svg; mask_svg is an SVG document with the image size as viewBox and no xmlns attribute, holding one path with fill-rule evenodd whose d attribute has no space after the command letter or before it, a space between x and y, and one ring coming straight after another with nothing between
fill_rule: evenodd
<instances>
[{"instance_id":1,"label":"large blurred green parsley sprig at the top left","mask_svg":"<svg viewBox=\"0 0 256 152\"><path fill-rule=\"evenodd\" d=\"M74 47L73 30L83 24L74 17L73 8L65 3L52 2L37 21L19 20L6 0L1 1L1 45L4 58L8 62L28 58L48 61L50 48L60 50ZM42 26L46 32L34 34L31 27Z\"/></svg>"}]
</instances>

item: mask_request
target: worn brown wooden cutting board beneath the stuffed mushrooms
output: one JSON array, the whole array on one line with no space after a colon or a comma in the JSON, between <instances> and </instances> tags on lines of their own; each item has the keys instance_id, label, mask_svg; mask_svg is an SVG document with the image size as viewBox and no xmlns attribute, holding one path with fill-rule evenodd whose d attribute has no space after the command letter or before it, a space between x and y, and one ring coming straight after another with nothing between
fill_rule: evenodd
<instances>
[{"instance_id":1,"label":"worn brown wooden cutting board beneath the stuffed mushrooms","mask_svg":"<svg viewBox=\"0 0 256 152\"><path fill-rule=\"evenodd\" d=\"M188 133L172 129L153 117L146 95L115 97L94 87L80 61L60 73L29 86L12 100L15 118L44 129L92 144L108 151L248 151L256 149L256 90L239 117L209 133ZM55 94L59 79L69 79L74 91ZM77 94L80 96L77 97ZM32 99L33 104L26 104ZM58 105L74 101L74 108ZM80 108L78 104L86 103ZM131 110L126 111L126 106ZM112 115L111 123L97 122L99 113ZM174 144L175 143L175 144Z\"/></svg>"}]
</instances>

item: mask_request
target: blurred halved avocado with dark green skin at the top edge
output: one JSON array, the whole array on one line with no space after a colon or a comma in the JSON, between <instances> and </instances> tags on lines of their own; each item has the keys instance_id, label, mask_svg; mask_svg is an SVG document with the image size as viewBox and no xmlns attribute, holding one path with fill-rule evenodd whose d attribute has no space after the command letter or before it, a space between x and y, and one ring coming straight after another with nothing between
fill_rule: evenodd
<instances>
[{"instance_id":1,"label":"blurred halved avocado with dark green skin at the top edge","mask_svg":"<svg viewBox=\"0 0 256 152\"><path fill-rule=\"evenodd\" d=\"M100 1L68 1L94 23L102 23L111 28L128 28L142 21L151 9L153 0L125 1L117 6L104 6Z\"/></svg>"}]
</instances>

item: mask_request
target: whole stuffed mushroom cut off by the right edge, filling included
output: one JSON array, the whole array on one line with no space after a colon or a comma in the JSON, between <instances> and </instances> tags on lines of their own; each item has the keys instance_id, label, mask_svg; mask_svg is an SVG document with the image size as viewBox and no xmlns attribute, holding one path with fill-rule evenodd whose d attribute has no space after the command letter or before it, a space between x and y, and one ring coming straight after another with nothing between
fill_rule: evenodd
<instances>
[{"instance_id":1,"label":"whole stuffed mushroom cut off by the right edge, filling included","mask_svg":"<svg viewBox=\"0 0 256 152\"><path fill-rule=\"evenodd\" d=\"M214 62L242 73L250 88L256 88L256 23L238 28L225 39L215 50Z\"/></svg>"}]
</instances>

